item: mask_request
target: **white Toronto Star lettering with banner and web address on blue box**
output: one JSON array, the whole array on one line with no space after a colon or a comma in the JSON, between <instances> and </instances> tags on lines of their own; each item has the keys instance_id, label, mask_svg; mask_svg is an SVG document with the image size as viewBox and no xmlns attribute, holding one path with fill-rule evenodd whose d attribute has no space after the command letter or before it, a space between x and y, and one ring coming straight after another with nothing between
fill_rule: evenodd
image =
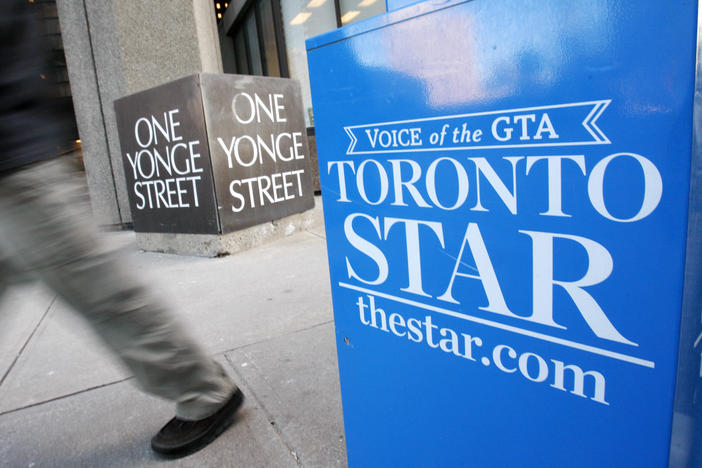
<instances>
[{"instance_id":1,"label":"white Toronto Star lettering with banner and web address on blue box","mask_svg":"<svg viewBox=\"0 0 702 468\"><path fill-rule=\"evenodd\" d=\"M638 337L619 325L619 311L608 309L597 294L618 262L627 259L608 249L606 237L569 230L573 220L593 216L598 223L635 227L659 206L661 174L646 155L634 152L593 158L580 148L553 148L583 145L586 137L592 144L610 144L595 125L609 104L605 100L418 119L405 121L406 126L394 122L345 127L351 138L350 158L330 160L326 170L338 194L335 203L348 206L343 222L346 279L338 286L360 293L345 296L354 297L349 309L368 328L546 382L593 402L616 404L607 399L605 375L596 369L506 343L488 344L475 327L458 330L441 324L442 316L460 318L508 332L502 335L505 340L517 334L655 367L639 357ZM476 126L481 122L487 125L484 130ZM427 131L427 125L435 131ZM379 130L388 126L392 128ZM440 145L444 136L461 143L457 139L468 134L468 126L473 129L471 142L481 143L478 135L490 135L484 154L463 147L453 149L465 153L447 155L442 150L451 148L442 147L409 159L388 150L432 150L425 145L427 137L429 144L435 140ZM362 136L355 140L359 130ZM508 154L496 151L500 142L510 148ZM530 150L520 155L515 149L520 145ZM534 150L539 146L550 151L540 154ZM374 153L379 154L369 156ZM630 187L624 203L610 198L612 184ZM376 214L380 206L391 209L392 215ZM401 216L404 210L411 215ZM501 218L497 224L490 218L495 214ZM563 225L564 230L532 229L525 221L529 219L550 219L550 226ZM495 256L493 249L498 251ZM501 262L505 249L515 260L512 268ZM431 264L430 271L426 264ZM563 275L564 265L577 265L577 274ZM509 285L502 276L512 281L518 277L530 291ZM414 309L425 314L402 312ZM583 342L569 336L571 327L585 327L590 338Z\"/></svg>"}]
</instances>

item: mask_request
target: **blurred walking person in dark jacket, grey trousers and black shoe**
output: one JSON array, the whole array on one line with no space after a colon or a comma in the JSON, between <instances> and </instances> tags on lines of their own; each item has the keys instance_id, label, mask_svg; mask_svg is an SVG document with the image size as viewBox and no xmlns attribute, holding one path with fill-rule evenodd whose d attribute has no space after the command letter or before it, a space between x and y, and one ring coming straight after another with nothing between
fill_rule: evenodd
<instances>
[{"instance_id":1,"label":"blurred walking person in dark jacket, grey trousers and black shoe","mask_svg":"<svg viewBox=\"0 0 702 468\"><path fill-rule=\"evenodd\" d=\"M192 453L231 425L243 394L71 204L70 171L54 157L63 125L41 76L47 61L33 6L0 7L0 296L17 275L53 289L143 390L175 402L152 448Z\"/></svg>"}]
</instances>

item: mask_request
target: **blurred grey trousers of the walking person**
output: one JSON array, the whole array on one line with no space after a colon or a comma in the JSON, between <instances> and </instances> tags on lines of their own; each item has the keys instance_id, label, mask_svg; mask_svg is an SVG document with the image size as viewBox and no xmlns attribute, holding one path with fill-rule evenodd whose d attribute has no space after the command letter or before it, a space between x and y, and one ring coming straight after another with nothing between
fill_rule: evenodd
<instances>
[{"instance_id":1,"label":"blurred grey trousers of the walking person","mask_svg":"<svg viewBox=\"0 0 702 468\"><path fill-rule=\"evenodd\" d=\"M209 416L236 387L102 246L72 203L64 166L52 160L0 177L0 294L17 275L38 277L88 321L144 390L175 401L182 419Z\"/></svg>"}]
</instances>

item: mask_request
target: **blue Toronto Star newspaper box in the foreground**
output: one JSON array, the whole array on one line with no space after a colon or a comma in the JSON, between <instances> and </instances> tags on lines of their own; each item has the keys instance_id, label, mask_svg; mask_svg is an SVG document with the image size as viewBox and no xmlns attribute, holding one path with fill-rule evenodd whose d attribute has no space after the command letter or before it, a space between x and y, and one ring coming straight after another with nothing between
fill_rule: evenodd
<instances>
[{"instance_id":1,"label":"blue Toronto Star newspaper box in the foreground","mask_svg":"<svg viewBox=\"0 0 702 468\"><path fill-rule=\"evenodd\" d=\"M307 41L351 466L702 466L696 35L474 0Z\"/></svg>"}]
</instances>

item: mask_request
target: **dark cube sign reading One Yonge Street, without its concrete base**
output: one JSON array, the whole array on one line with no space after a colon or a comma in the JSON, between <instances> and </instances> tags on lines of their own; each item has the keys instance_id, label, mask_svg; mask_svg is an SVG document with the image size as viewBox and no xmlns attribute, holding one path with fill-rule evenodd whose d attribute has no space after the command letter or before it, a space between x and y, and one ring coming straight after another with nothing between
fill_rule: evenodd
<instances>
[{"instance_id":1,"label":"dark cube sign reading One Yonge Street, without its concrete base","mask_svg":"<svg viewBox=\"0 0 702 468\"><path fill-rule=\"evenodd\" d=\"M314 206L300 89L200 73L115 102L135 230L226 234Z\"/></svg>"}]
</instances>

